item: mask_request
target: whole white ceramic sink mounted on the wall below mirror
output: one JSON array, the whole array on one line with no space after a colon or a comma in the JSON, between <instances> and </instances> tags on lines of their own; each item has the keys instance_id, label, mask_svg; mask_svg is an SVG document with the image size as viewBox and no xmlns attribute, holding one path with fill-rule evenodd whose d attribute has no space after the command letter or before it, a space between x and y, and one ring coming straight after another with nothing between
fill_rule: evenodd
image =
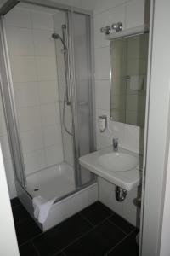
<instances>
[{"instance_id":1,"label":"whole white ceramic sink mounted on the wall below mirror","mask_svg":"<svg viewBox=\"0 0 170 256\"><path fill-rule=\"evenodd\" d=\"M121 187L131 190L139 186L139 154L119 148L103 148L79 159L80 165L94 172L99 177Z\"/></svg>"}]
</instances>

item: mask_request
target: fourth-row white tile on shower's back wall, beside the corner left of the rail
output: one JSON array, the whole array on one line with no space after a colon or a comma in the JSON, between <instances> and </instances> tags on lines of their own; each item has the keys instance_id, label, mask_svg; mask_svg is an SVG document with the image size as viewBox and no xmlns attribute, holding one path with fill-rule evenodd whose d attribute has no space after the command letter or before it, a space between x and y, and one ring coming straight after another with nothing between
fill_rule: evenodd
<instances>
[{"instance_id":1,"label":"fourth-row white tile on shower's back wall, beside the corner left of the rail","mask_svg":"<svg viewBox=\"0 0 170 256\"><path fill-rule=\"evenodd\" d=\"M57 102L59 100L57 81L38 82L38 90L41 104Z\"/></svg>"}]
</instances>

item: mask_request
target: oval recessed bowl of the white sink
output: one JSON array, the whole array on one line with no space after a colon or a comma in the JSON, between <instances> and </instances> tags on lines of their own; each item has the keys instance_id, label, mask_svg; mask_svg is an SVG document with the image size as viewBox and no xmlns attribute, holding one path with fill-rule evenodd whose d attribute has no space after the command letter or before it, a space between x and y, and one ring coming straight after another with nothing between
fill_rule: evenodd
<instances>
[{"instance_id":1,"label":"oval recessed bowl of the white sink","mask_svg":"<svg viewBox=\"0 0 170 256\"><path fill-rule=\"evenodd\" d=\"M112 172L126 172L139 165L139 158L122 152L111 152L99 156L99 164Z\"/></svg>"}]
</instances>

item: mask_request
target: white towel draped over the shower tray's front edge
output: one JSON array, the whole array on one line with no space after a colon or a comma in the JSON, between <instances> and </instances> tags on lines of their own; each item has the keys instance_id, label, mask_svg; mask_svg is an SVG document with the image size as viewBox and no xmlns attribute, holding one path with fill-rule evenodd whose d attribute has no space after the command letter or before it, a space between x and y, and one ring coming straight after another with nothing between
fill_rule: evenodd
<instances>
[{"instance_id":1,"label":"white towel draped over the shower tray's front edge","mask_svg":"<svg viewBox=\"0 0 170 256\"><path fill-rule=\"evenodd\" d=\"M39 223L44 223L48 218L48 213L53 206L55 198L47 201L42 196L38 195L32 199L32 205L34 208L34 217Z\"/></svg>"}]
</instances>

